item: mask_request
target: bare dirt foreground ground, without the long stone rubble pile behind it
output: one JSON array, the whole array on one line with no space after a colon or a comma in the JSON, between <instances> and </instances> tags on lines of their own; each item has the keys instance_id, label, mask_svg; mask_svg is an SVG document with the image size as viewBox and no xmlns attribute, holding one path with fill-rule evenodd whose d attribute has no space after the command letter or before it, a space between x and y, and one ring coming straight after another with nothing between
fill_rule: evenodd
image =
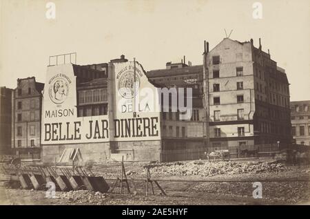
<instances>
[{"instance_id":1,"label":"bare dirt foreground ground, without the long stone rubble pile behind it","mask_svg":"<svg viewBox=\"0 0 310 219\"><path fill-rule=\"evenodd\" d=\"M56 198L45 198L45 191L8 189L2 184L0 204L310 204L309 166L288 166L286 171L280 172L218 174L208 177L154 174L152 178L158 180L167 196L163 196L155 186L155 195L152 195L149 186L149 196L145 196L144 165L145 163L125 164L128 178L134 179L136 196L128 194L125 188L125 193L120 194L119 184L112 193L87 193L83 197L71 197L57 191ZM121 178L119 163L94 165L92 171L96 175L103 175L110 187L113 187L115 178ZM182 180L196 182L181 182ZM220 182L202 182L203 180ZM227 180L230 182L226 182ZM231 182L234 180L247 182ZM262 183L262 198L253 198L255 188L249 180ZM282 182L271 182L272 180ZM132 184L130 186L132 188Z\"/></svg>"}]
</instances>

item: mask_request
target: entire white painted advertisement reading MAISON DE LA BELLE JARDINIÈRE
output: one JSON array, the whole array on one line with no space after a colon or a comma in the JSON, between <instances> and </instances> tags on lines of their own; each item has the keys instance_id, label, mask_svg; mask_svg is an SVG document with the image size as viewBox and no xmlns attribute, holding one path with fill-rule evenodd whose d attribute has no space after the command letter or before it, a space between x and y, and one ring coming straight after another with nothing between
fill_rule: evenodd
<instances>
[{"instance_id":1,"label":"entire white painted advertisement reading MAISON DE LA BELLE JARDINI\u00c8RE","mask_svg":"<svg viewBox=\"0 0 310 219\"><path fill-rule=\"evenodd\" d=\"M116 63L107 115L78 117L72 64L49 66L43 91L41 144L159 140L158 93L136 62ZM113 91L109 91L113 89ZM157 107L157 108L156 108ZM113 116L112 116L113 115ZM109 120L109 116L113 120ZM110 122L113 130L110 131Z\"/></svg>"}]
</instances>

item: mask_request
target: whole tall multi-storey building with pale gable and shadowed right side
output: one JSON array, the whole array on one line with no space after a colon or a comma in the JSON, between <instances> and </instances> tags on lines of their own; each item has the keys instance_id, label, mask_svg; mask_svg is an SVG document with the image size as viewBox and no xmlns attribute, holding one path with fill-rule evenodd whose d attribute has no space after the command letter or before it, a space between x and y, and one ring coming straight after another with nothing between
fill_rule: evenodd
<instances>
[{"instance_id":1,"label":"whole tall multi-storey building with pale gable and shadowed right side","mask_svg":"<svg viewBox=\"0 0 310 219\"><path fill-rule=\"evenodd\" d=\"M261 44L225 38L207 53L211 147L291 143L287 75Z\"/></svg>"}]
</instances>

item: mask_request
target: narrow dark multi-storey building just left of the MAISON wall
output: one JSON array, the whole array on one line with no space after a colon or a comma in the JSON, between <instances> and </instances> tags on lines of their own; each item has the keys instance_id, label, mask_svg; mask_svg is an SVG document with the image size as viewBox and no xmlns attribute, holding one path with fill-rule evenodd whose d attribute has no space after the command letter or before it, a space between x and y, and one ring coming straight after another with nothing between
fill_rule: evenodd
<instances>
[{"instance_id":1,"label":"narrow dark multi-storey building just left of the MAISON wall","mask_svg":"<svg viewBox=\"0 0 310 219\"><path fill-rule=\"evenodd\" d=\"M12 151L21 158L40 158L44 84L34 77L17 79L12 95Z\"/></svg>"}]
</instances>

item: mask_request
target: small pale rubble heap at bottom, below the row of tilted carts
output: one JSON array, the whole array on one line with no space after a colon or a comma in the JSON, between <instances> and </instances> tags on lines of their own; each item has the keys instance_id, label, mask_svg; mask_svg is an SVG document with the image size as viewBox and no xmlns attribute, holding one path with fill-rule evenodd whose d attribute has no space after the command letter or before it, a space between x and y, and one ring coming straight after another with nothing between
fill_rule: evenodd
<instances>
[{"instance_id":1,"label":"small pale rubble heap at bottom, below the row of tilted carts","mask_svg":"<svg viewBox=\"0 0 310 219\"><path fill-rule=\"evenodd\" d=\"M78 203L101 203L101 201L105 198L105 194L99 191L88 191L88 190L77 190L77 191L68 191L65 193L61 193L59 198L68 199L72 202Z\"/></svg>"}]
</instances>

